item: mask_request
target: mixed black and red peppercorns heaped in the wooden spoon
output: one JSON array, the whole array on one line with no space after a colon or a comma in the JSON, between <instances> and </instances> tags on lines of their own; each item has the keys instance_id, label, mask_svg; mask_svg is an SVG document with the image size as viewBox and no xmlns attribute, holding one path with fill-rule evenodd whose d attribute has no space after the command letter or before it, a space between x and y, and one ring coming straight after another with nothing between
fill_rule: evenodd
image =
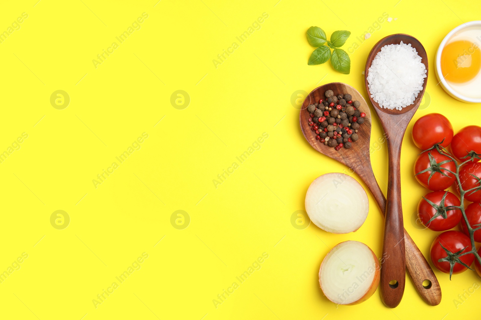
<instances>
[{"instance_id":1,"label":"mixed black and red peppercorns heaped in the wooden spoon","mask_svg":"<svg viewBox=\"0 0 481 320\"><path fill-rule=\"evenodd\" d=\"M320 99L307 107L309 126L316 132L316 140L340 150L349 149L352 142L359 139L357 131L364 123L366 113L357 108L359 101L352 101L352 95L334 95L332 90L325 92L326 99Z\"/></svg>"}]
</instances>

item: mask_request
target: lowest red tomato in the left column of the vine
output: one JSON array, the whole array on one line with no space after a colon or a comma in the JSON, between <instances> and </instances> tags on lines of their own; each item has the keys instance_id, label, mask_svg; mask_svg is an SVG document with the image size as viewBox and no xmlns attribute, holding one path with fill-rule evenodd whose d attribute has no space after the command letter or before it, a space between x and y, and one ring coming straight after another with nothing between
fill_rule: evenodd
<instances>
[{"instance_id":1,"label":"lowest red tomato in the left column of the vine","mask_svg":"<svg viewBox=\"0 0 481 320\"><path fill-rule=\"evenodd\" d=\"M461 251L464 248L466 249L463 250L461 253L471 251L471 240L469 239L468 236L466 236L461 231L455 231L455 230L445 231L439 236L437 236L431 245L431 251L430 251L431 261L434 264L434 266L438 268L439 271L442 271L443 273L450 273L451 265L448 261L441 261L441 262L438 261L439 259L443 259L448 256L446 251L441 247L440 243L443 245L444 248L448 249L452 253ZM468 269L465 266L463 266L461 263L459 263L459 261L462 261L466 265L470 266L473 263L473 260L474 260L474 254L472 253L466 254L461 257L456 257L453 260L453 263L454 263L453 273L455 274L462 273Z\"/></svg>"}]
</instances>

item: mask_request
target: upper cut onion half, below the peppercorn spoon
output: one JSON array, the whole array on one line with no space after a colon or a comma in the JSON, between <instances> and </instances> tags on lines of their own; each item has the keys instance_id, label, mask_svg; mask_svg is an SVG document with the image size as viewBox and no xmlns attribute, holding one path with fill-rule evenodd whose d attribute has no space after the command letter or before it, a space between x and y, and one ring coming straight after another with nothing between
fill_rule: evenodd
<instances>
[{"instance_id":1,"label":"upper cut onion half, below the peppercorn spoon","mask_svg":"<svg viewBox=\"0 0 481 320\"><path fill-rule=\"evenodd\" d=\"M366 221L369 200L354 178L343 173L326 173L307 189L305 211L319 228L332 233L349 233Z\"/></svg>"}]
</instances>

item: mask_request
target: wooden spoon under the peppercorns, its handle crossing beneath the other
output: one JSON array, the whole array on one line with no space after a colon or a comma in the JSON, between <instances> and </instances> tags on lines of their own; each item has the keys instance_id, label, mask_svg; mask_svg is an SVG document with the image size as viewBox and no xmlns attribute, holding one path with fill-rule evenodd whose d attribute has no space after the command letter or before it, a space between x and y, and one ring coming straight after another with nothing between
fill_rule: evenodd
<instances>
[{"instance_id":1,"label":"wooden spoon under the peppercorns, its handle crossing beneath the other","mask_svg":"<svg viewBox=\"0 0 481 320\"><path fill-rule=\"evenodd\" d=\"M318 102L319 99L326 99L324 93L327 90L332 90L336 95L340 93L348 93L352 95L353 101L357 100L361 103L361 106L358 109L361 112L366 113L366 117L364 118L365 121L357 132L359 140L353 142L350 149L342 148L341 150L336 151L334 148L320 143L316 140L315 132L312 131L309 126L309 113L306 108L308 105ZM381 213L384 214L386 212L386 199L374 177L370 160L369 140L371 137L371 112L362 95L352 86L345 83L335 82L324 84L314 89L305 98L300 112L300 124L305 139L314 149L316 149L316 151L348 166L348 173L355 172L364 181L378 203ZM430 306L437 306L441 302L441 288L439 282L432 272L428 261L426 261L406 230L404 230L404 235L407 272L411 276L416 290L419 292L419 295L423 300ZM423 286L423 281L426 280L429 281L429 284Z\"/></svg>"}]
</instances>

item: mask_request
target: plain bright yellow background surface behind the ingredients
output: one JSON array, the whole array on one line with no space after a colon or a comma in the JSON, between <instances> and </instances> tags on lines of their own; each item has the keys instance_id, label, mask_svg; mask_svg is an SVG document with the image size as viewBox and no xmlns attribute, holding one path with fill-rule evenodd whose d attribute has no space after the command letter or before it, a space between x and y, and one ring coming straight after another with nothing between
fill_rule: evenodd
<instances>
[{"instance_id":1,"label":"plain bright yellow background surface behind the ingredients","mask_svg":"<svg viewBox=\"0 0 481 320\"><path fill-rule=\"evenodd\" d=\"M355 233L291 225L292 213L304 210L309 184L346 169L304 140L291 95L344 82L367 98L368 52L380 38L406 33L424 45L431 67L431 101L414 118L441 112L455 130L477 124L478 117L469 116L477 106L436 85L433 65L443 37L479 19L478 9L474 0L2 3L1 30L22 12L28 18L0 44L0 150L22 132L28 138L0 164L0 272L23 252L28 258L0 284L0 318L441 320L479 314L479 290L457 308L453 302L481 283L470 271L449 281L435 270L443 290L437 307L427 306L410 280L395 309L382 305L379 290L352 307L336 307L322 295L317 273L329 248L359 240L381 256L383 220L369 193L370 213ZM149 17L141 28L95 68L92 59L142 12ZM239 43L236 36L263 12L268 18L261 28ZM384 21L363 43L356 39L383 12L398 19ZM349 75L329 63L307 65L311 25L328 36L352 32L343 48L354 41L360 46L350 54ZM213 59L232 42L239 47L215 68ZM50 103L56 90L70 96L62 110ZM176 90L190 96L187 108L171 105ZM454 118L453 110L465 116ZM427 192L412 173L419 152L409 134L413 123L402 152L403 209L406 229L427 255L436 233L412 224ZM141 148L95 188L92 179L142 132L149 137ZM213 179L263 132L268 138L260 150L215 188ZM371 143L381 136L373 119ZM376 149L372 163L385 192L386 144ZM63 230L50 223L56 210L70 216ZM187 228L171 225L176 210L189 214ZM143 252L149 257L141 268L95 308L92 299ZM212 300L263 252L269 256L261 269L215 308Z\"/></svg>"}]
</instances>

